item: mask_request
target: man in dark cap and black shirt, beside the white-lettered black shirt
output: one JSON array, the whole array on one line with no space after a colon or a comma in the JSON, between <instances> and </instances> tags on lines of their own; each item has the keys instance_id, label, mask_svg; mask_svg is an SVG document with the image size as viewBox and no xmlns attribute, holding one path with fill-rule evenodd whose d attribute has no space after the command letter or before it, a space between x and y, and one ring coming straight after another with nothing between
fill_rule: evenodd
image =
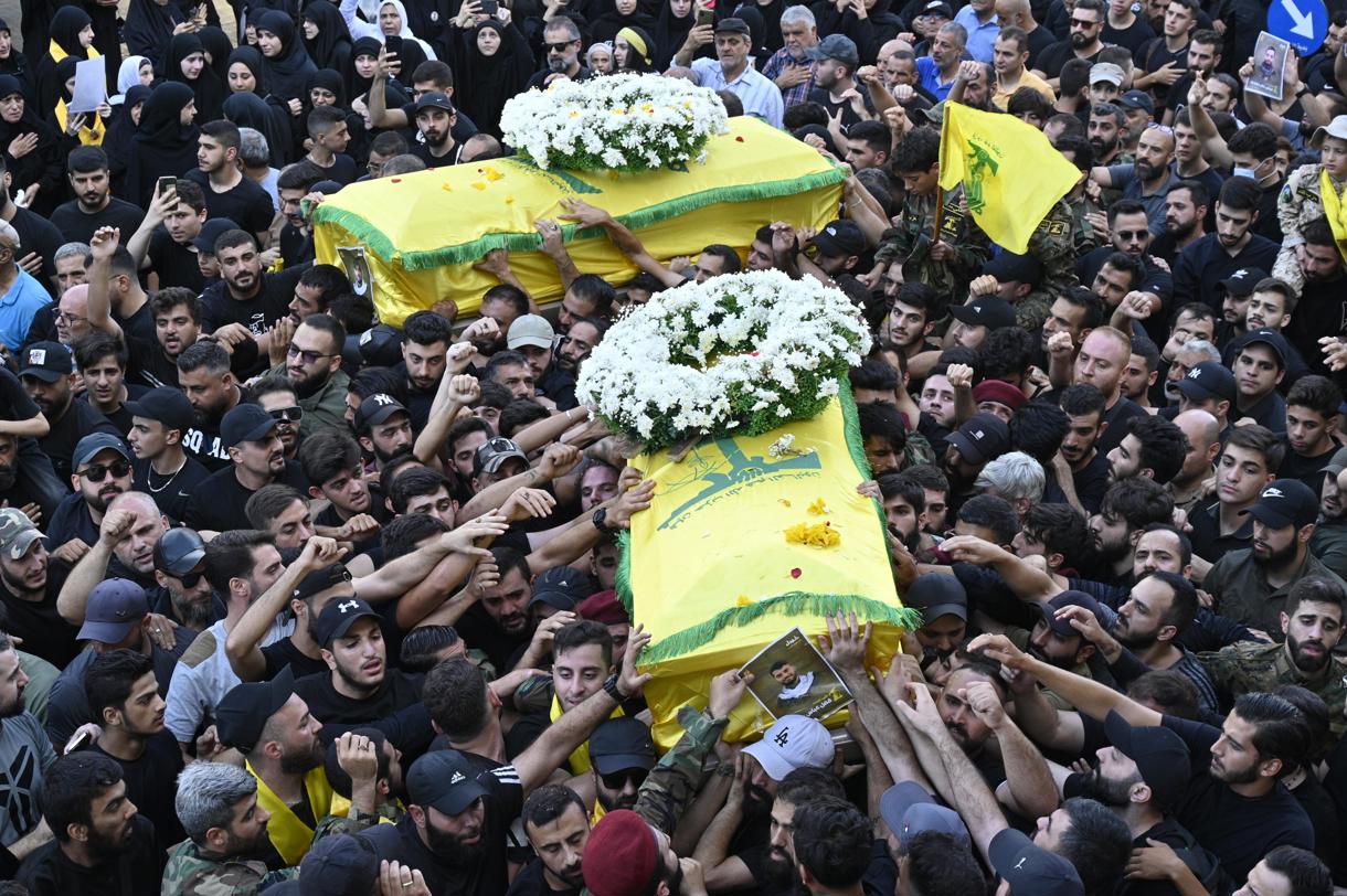
<instances>
[{"instance_id":1,"label":"man in dark cap and black shirt, beside the white-lettered black shirt","mask_svg":"<svg viewBox=\"0 0 1347 896\"><path fill-rule=\"evenodd\" d=\"M260 406L238 405L226 413L220 435L233 465L217 470L197 488L185 519L193 529L245 529L248 499L273 482L291 486L300 494L308 488L299 464L286 460L276 421Z\"/></svg>"}]
</instances>

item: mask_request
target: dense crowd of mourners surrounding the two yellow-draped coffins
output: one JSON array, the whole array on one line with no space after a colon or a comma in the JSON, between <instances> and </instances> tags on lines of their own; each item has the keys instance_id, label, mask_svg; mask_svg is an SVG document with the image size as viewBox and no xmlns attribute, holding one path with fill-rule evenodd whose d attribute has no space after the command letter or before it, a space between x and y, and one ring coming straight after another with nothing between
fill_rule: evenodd
<instances>
[{"instance_id":1,"label":"dense crowd of mourners surrounding the two yellow-draped coffins","mask_svg":"<svg viewBox=\"0 0 1347 896\"><path fill-rule=\"evenodd\" d=\"M1347 887L1331 5L1269 90L1258 0L234 0L228 31L209 1L23 0L0 895ZM108 98L71 112L98 58ZM667 260L566 199L535 222L559 305L494 250L498 285L399 327L317 264L327 196L509 155L511 97L618 71L850 168L835 219ZM938 187L950 102L1079 171L1024 254ZM638 273L581 270L568 223ZM614 589L655 484L577 375L652 295L766 269L876 335L857 487L921 626L877 669L865 619L815 620L845 726L730 743L725 669L656 737L641 650L672 632ZM808 690L772 675L781 709Z\"/></svg>"}]
</instances>

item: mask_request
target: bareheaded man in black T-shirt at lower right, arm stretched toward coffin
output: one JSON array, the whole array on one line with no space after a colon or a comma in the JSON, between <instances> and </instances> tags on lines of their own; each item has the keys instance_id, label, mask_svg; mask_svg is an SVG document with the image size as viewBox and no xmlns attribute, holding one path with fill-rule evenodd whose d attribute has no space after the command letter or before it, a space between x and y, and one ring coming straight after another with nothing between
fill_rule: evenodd
<instances>
[{"instance_id":1,"label":"bareheaded man in black T-shirt at lower right, arm stretched toward coffin","mask_svg":"<svg viewBox=\"0 0 1347 896\"><path fill-rule=\"evenodd\" d=\"M1043 717L1021 710L1020 722L1044 748L1080 753L1087 731L1083 716L1099 722L1110 710L1130 725L1162 725L1179 735L1188 745L1191 764L1175 803L1175 818L1215 853L1231 877L1242 879L1278 845L1313 846L1309 817L1290 791L1280 786L1286 763L1299 763L1309 748L1311 732L1300 710L1281 697L1245 694L1216 728L1162 716L1106 685L1033 659L1001 635L977 638L970 648L986 651L1016 673L1033 675L1079 709Z\"/></svg>"}]
</instances>

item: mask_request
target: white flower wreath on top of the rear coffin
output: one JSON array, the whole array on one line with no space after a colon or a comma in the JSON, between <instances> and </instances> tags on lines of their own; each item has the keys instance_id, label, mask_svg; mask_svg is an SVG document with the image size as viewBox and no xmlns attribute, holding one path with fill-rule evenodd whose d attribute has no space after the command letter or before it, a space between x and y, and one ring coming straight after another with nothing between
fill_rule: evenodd
<instances>
[{"instance_id":1,"label":"white flower wreath on top of the rear coffin","mask_svg":"<svg viewBox=\"0 0 1347 896\"><path fill-rule=\"evenodd\" d=\"M714 90L683 78L620 74L562 81L505 104L505 143L540 168L652 171L706 160L729 130Z\"/></svg>"}]
</instances>

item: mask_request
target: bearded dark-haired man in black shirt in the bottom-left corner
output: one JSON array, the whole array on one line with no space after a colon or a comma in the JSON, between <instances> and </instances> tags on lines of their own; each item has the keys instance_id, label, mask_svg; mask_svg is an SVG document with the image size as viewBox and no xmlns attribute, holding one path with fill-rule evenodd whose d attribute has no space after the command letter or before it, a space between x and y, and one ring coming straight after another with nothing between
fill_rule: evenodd
<instances>
[{"instance_id":1,"label":"bearded dark-haired man in black shirt in the bottom-left corner","mask_svg":"<svg viewBox=\"0 0 1347 896\"><path fill-rule=\"evenodd\" d=\"M92 751L62 756L43 776L39 802L55 841L15 874L30 893L112 896L159 888L163 852L155 826L127 796L116 760Z\"/></svg>"}]
</instances>

